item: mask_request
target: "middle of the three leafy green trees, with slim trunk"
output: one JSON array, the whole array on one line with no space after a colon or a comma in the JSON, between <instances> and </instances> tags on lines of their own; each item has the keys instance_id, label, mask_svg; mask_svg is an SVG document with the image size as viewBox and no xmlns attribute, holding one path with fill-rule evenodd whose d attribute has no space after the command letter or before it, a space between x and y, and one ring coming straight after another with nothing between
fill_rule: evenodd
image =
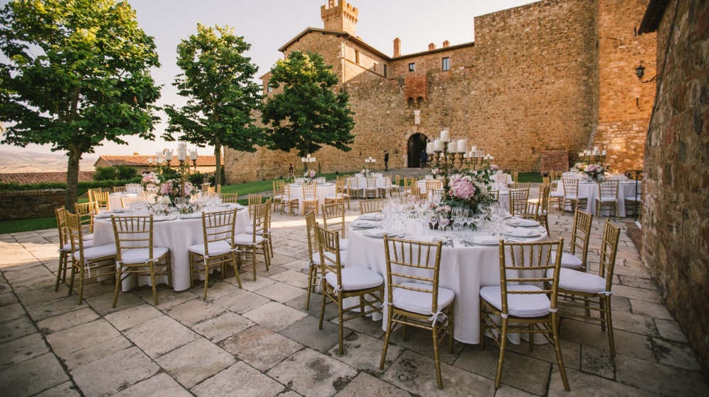
<instances>
[{"instance_id":1,"label":"middle of the three leafy green trees, with slim trunk","mask_svg":"<svg viewBox=\"0 0 709 397\"><path fill-rule=\"evenodd\" d=\"M261 100L261 87L252 79L258 67L243 56L250 44L228 26L207 28L197 24L196 35L177 46L177 66L183 73L174 86L187 98L186 105L165 106L169 127L164 135L182 133L180 139L214 146L216 183L221 184L221 147L256 151L264 144L262 129L252 113Z\"/></svg>"}]
</instances>

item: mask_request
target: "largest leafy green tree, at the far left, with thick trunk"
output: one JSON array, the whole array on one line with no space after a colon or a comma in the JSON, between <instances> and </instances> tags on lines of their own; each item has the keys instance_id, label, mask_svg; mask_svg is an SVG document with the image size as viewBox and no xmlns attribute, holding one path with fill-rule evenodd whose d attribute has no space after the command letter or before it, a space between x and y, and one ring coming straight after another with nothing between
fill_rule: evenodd
<instances>
[{"instance_id":1,"label":"largest leafy green tree, at the far left, with thick trunk","mask_svg":"<svg viewBox=\"0 0 709 397\"><path fill-rule=\"evenodd\" d=\"M65 206L77 200L79 160L104 141L152 139L160 67L155 42L127 2L11 1L0 11L3 143L67 151Z\"/></svg>"}]
</instances>

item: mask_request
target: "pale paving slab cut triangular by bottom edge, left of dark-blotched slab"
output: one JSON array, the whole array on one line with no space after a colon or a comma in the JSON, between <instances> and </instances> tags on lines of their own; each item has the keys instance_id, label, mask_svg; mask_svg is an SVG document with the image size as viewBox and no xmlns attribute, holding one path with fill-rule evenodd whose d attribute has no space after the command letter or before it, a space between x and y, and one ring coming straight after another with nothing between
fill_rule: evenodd
<instances>
[{"instance_id":1,"label":"pale paving slab cut triangular by bottom edge, left of dark-blotched slab","mask_svg":"<svg viewBox=\"0 0 709 397\"><path fill-rule=\"evenodd\" d=\"M271 397L285 389L277 381L238 362L192 389L198 397Z\"/></svg>"}]
</instances>

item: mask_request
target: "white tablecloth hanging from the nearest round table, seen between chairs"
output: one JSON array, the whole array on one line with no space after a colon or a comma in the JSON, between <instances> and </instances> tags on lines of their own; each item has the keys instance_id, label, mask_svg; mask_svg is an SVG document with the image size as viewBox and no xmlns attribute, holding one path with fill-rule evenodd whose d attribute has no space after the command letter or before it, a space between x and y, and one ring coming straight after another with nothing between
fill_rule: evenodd
<instances>
[{"instance_id":1,"label":"white tablecloth hanging from the nearest round table, seen between chairs","mask_svg":"<svg viewBox=\"0 0 709 397\"><path fill-rule=\"evenodd\" d=\"M546 231L537 227L540 236L525 238L525 241L547 241ZM431 230L420 236L407 236L431 241L440 231ZM454 239L455 240L455 239ZM379 273L386 283L386 260L384 258L384 240L365 236L362 231L350 228L347 243L345 266L364 266ZM440 260L440 286L451 289L455 294L453 336L462 343L480 343L480 289L491 285L500 285L500 249L499 246L464 246L455 241L453 247L442 248ZM386 287L384 288L386 294ZM385 299L386 301L386 299ZM387 306L384 305L384 318ZM379 319L379 316L373 318ZM386 330L386 321L381 328ZM541 336L541 335L538 335ZM535 343L544 338L535 338ZM518 334L510 334L510 341L519 343Z\"/></svg>"}]
</instances>

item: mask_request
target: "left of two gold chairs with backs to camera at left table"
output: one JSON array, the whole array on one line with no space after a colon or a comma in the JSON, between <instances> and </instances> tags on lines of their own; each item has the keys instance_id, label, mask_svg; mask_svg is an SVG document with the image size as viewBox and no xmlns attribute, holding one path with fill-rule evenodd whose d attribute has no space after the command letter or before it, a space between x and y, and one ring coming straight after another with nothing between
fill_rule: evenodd
<instances>
[{"instance_id":1,"label":"left of two gold chairs with backs to camera at left table","mask_svg":"<svg viewBox=\"0 0 709 397\"><path fill-rule=\"evenodd\" d=\"M113 236L116 239L116 287L113 289L113 305L118 301L118 289L123 280L131 275L150 277L152 299L157 306L157 281L167 276L167 285L172 286L170 250L156 247L153 241L152 215L147 217L111 217ZM138 284L137 282L135 284Z\"/></svg>"}]
</instances>

